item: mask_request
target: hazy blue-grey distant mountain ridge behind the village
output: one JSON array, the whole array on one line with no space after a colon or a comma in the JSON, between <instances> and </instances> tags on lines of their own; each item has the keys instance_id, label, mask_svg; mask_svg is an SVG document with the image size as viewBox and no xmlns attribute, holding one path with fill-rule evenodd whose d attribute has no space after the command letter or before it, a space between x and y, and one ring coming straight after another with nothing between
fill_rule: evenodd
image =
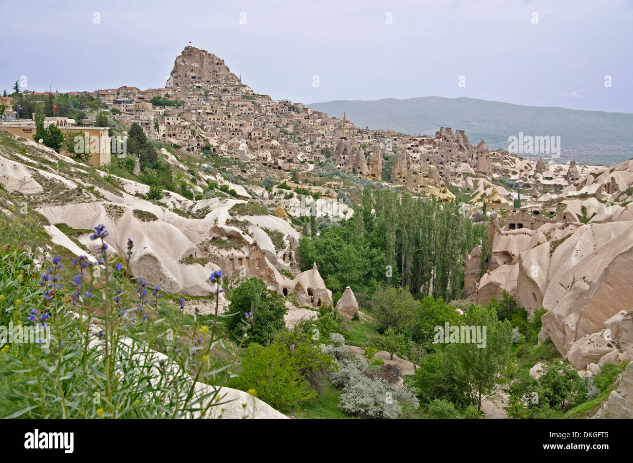
<instances>
[{"instance_id":1,"label":"hazy blue-grey distant mountain ridge behind the village","mask_svg":"<svg viewBox=\"0 0 633 463\"><path fill-rule=\"evenodd\" d=\"M491 148L508 148L508 137L560 135L566 147L586 150L611 147L633 156L633 114L579 111L556 107L521 106L474 98L387 98L377 101L339 100L308 104L329 116L358 127L391 129L411 135L435 135L440 127L463 129L472 144L484 139ZM591 154L582 150L585 154ZM611 151L611 150L609 150ZM630 157L629 156L629 157Z\"/></svg>"}]
</instances>

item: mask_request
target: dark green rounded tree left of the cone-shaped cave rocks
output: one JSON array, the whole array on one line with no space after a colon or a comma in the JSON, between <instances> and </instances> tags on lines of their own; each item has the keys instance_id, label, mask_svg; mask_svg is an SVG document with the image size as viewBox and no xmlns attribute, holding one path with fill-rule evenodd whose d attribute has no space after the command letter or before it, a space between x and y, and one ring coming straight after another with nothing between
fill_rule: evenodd
<instances>
[{"instance_id":1,"label":"dark green rounded tree left of the cone-shaped cave rocks","mask_svg":"<svg viewBox=\"0 0 633 463\"><path fill-rule=\"evenodd\" d=\"M242 319L251 312L253 322L248 331L247 343L267 344L279 331L284 329L284 315L287 311L284 297L274 293L259 278L249 278L233 290L229 312L237 313L227 321L227 328L235 339L242 337Z\"/></svg>"}]
</instances>

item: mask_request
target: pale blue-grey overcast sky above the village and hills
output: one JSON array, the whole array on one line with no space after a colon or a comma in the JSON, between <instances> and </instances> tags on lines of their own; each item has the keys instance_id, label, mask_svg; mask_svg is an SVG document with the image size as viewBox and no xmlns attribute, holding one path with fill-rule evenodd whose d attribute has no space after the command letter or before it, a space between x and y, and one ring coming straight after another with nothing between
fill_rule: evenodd
<instances>
[{"instance_id":1,"label":"pale blue-grey overcast sky above the village and hills","mask_svg":"<svg viewBox=\"0 0 633 463\"><path fill-rule=\"evenodd\" d=\"M36 91L163 87L191 40L273 99L633 113L633 0L0 0L0 11L0 91L21 76Z\"/></svg>"}]
</instances>

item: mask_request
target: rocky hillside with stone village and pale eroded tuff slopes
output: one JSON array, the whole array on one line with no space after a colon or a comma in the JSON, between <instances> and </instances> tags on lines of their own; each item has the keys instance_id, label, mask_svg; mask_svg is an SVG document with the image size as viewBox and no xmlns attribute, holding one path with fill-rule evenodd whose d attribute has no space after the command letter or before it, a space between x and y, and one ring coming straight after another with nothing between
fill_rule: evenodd
<instances>
[{"instance_id":1,"label":"rocky hillside with stone village and pale eroded tuff slopes","mask_svg":"<svg viewBox=\"0 0 633 463\"><path fill-rule=\"evenodd\" d=\"M633 160L611 168L558 164L546 154L530 161L491 151L485 140L472 143L460 128L413 136L356 127L346 116L256 94L223 59L192 46L175 59L165 87L78 90L68 97L82 94L101 108L88 111L81 125L68 116L47 116L44 127L96 136L99 145L84 160L39 143L35 121L16 120L12 109L0 121L0 208L6 216L22 204L35 211L51 250L97 263L101 243L90 232L103 224L112 255L125 257L131 239L134 276L185 297L184 313L213 313L209 298L217 287L207 280L221 270L230 289L256 277L282 296L285 328L318 319L325 306L335 307L349 326L360 326L372 320L365 296L354 293L353 282L326 275L316 260L304 261L302 240L351 223L367 201L374 208L366 207L367 215L378 214L381 192L408 195L447 211L455 207L460 224L467 219L483 233L453 259L462 280L459 286L458 272L451 272L442 294L447 304L458 301L451 311L463 315L471 303L508 298L530 320L545 310L538 342L551 340L552 358L524 365L535 380L553 358L567 359L583 380L599 377L607 363L633 360ZM15 106L10 96L3 102ZM146 137L177 179L169 188L144 181L148 172L160 172L144 167L141 155L111 151L111 136L133 132L134 140ZM125 166L126 158L131 165ZM386 262L399 266L399 278L413 285L399 252L401 262ZM420 297L436 295L439 284L418 285ZM229 298L215 294L228 311ZM364 339L348 345L357 354L363 346ZM420 358L403 347L395 352L379 349L374 358L398 367L389 384L406 385ZM622 370L592 405L591 416L633 416L633 369L629 364ZM508 397L496 390L479 404L484 416L507 417L502 405ZM265 411L265 417L285 417L273 407Z\"/></svg>"}]
</instances>

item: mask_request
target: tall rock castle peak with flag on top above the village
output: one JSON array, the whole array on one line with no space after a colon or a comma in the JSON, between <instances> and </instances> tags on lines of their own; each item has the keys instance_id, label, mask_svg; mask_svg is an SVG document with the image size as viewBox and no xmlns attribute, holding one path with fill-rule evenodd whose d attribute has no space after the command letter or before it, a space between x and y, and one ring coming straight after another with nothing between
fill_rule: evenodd
<instances>
[{"instance_id":1,"label":"tall rock castle peak with flag on top above the village","mask_svg":"<svg viewBox=\"0 0 633 463\"><path fill-rule=\"evenodd\" d=\"M236 86L240 84L239 78L229 70L222 58L206 50L187 46L176 57L166 85L180 88L199 85L201 88L211 88L217 83Z\"/></svg>"}]
</instances>

